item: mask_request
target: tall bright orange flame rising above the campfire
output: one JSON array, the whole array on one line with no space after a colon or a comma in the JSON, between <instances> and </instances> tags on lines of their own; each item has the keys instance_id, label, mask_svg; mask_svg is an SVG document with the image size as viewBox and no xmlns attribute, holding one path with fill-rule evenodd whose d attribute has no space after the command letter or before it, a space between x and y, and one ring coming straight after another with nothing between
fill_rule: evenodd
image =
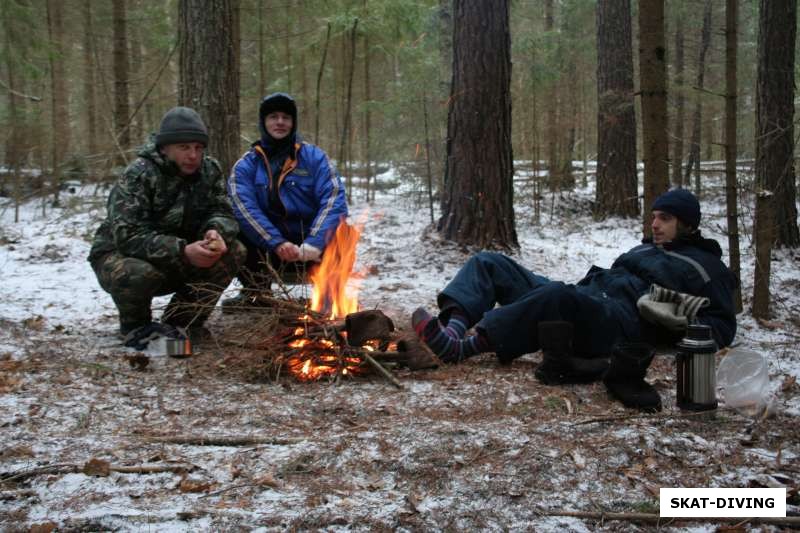
<instances>
[{"instance_id":1,"label":"tall bright orange flame rising above the campfire","mask_svg":"<svg viewBox=\"0 0 800 533\"><path fill-rule=\"evenodd\" d=\"M344 318L358 311L357 288L348 287L347 281L356 262L359 237L360 228L344 221L339 224L333 240L325 247L322 263L310 274L314 285L311 294L312 310L330 312L331 319Z\"/></svg>"}]
</instances>

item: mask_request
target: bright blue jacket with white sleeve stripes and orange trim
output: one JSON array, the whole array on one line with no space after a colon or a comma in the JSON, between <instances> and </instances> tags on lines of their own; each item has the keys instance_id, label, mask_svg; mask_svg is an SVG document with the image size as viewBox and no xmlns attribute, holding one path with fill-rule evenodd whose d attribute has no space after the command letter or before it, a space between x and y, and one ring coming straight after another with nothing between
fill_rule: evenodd
<instances>
[{"instance_id":1,"label":"bright blue jacket with white sleeve stripes and orange trim","mask_svg":"<svg viewBox=\"0 0 800 533\"><path fill-rule=\"evenodd\" d=\"M322 149L298 142L293 152L279 175L269 170L259 143L236 162L228 180L233 213L246 239L259 249L274 251L290 241L324 251L347 216L344 186ZM270 202L272 187L278 187L279 202Z\"/></svg>"}]
</instances>

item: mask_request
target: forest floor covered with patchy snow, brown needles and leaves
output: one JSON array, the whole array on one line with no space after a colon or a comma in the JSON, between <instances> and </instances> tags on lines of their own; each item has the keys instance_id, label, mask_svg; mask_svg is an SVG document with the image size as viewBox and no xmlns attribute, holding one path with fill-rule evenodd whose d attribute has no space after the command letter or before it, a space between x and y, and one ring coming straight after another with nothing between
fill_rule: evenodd
<instances>
[{"instance_id":1,"label":"forest floor covered with patchy snow, brown needles and leaves","mask_svg":"<svg viewBox=\"0 0 800 533\"><path fill-rule=\"evenodd\" d=\"M715 179L703 227L727 250ZM404 190L379 193L368 210L357 190L351 213L367 220L361 305L409 329L410 312L434 309L470 251L433 236L427 207ZM209 322L214 340L195 355L151 357L137 371L128 361L134 352L116 337L113 303L85 261L104 196L79 188L47 216L40 202L25 204L19 222L13 206L0 205L4 531L644 531L654 524L563 511L657 515L660 487L787 487L787 510L800 513L797 251L774 255L774 318L739 316L736 344L769 361L767 416L724 403L715 418L678 410L670 350L648 372L664 410L641 414L612 400L602 383L538 383L540 354L510 366L484 355L396 370L402 390L379 376L258 382L225 366L234 351L247 354L232 346L234 319L219 311ZM530 198L518 192L516 259L576 281L637 244L638 222L592 220L592 196L591 186L548 196L536 223ZM721 524L660 522L695 531ZM760 528L776 529L752 523L737 531Z\"/></svg>"}]
</instances>

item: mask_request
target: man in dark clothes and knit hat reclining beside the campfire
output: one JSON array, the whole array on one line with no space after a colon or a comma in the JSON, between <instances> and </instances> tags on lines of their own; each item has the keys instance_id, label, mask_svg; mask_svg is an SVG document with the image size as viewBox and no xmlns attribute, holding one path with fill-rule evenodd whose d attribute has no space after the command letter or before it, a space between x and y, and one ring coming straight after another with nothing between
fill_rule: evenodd
<instances>
[{"instance_id":1,"label":"man in dark clothes and knit hat reclining beside the campfire","mask_svg":"<svg viewBox=\"0 0 800 533\"><path fill-rule=\"evenodd\" d=\"M598 379L608 365L591 359L608 357L620 342L675 340L689 321L710 326L717 344L729 345L736 333L736 281L719 244L700 234L700 204L689 191L675 189L658 197L652 212L651 239L611 268L593 266L574 285L481 252L438 295L438 317L422 308L414 312L414 329L449 362L484 352L510 362L541 348L545 360L537 377L545 383ZM650 301L654 287L688 305L661 313L661 304ZM473 326L476 334L464 337Z\"/></svg>"}]
</instances>

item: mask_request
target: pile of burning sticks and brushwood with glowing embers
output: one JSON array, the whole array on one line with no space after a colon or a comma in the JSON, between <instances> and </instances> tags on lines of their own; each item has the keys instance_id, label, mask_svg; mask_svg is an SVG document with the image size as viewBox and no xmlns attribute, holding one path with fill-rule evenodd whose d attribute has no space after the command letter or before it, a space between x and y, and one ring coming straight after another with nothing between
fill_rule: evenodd
<instances>
[{"instance_id":1,"label":"pile of burning sticks and brushwood with glowing embers","mask_svg":"<svg viewBox=\"0 0 800 533\"><path fill-rule=\"evenodd\" d=\"M305 302L270 298L225 325L223 357L216 366L250 381L341 380L380 375L402 387L394 368L436 368L438 358L413 333L395 329L379 310L331 320Z\"/></svg>"}]
</instances>

